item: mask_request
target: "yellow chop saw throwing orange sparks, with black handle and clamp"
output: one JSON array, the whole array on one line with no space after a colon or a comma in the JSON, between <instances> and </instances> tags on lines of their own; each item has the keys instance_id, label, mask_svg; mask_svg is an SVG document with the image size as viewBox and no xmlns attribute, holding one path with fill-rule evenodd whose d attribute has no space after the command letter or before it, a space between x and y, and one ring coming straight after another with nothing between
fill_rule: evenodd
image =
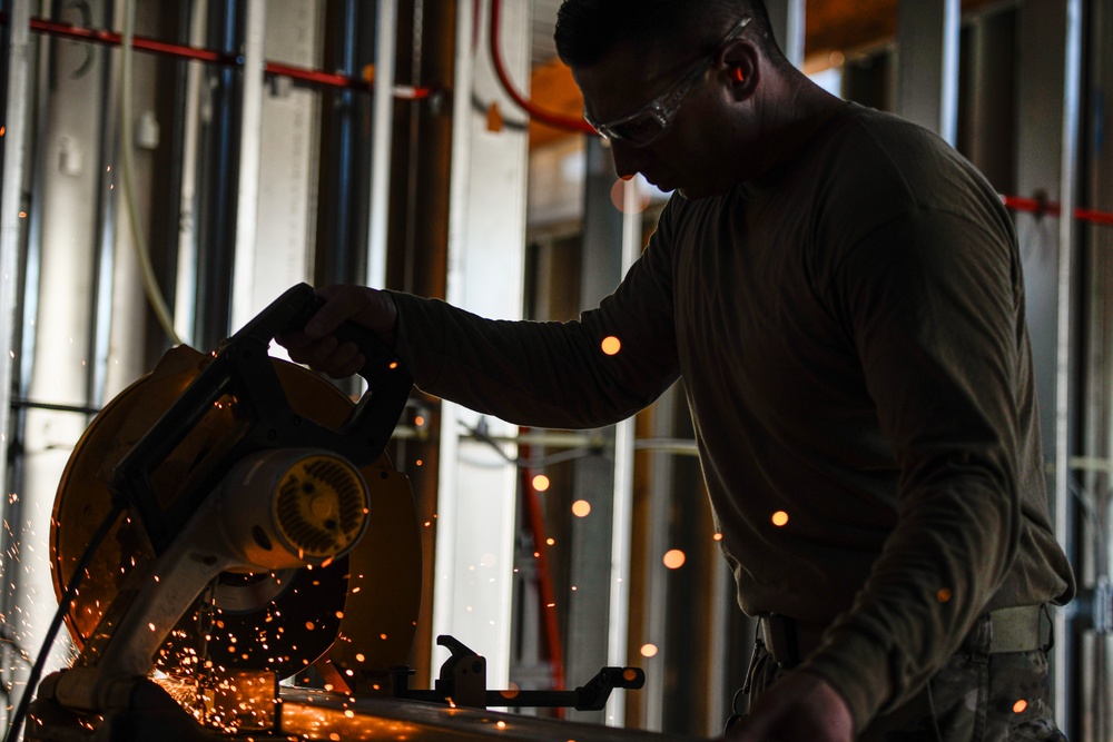
<instances>
[{"instance_id":1,"label":"yellow chop saw throwing orange sparks, with black handle and clamp","mask_svg":"<svg viewBox=\"0 0 1113 742\"><path fill-rule=\"evenodd\" d=\"M490 691L485 660L442 636L435 687L408 687L420 528L384 451L412 379L349 325L338 335L367 359L358 402L272 358L318 307L302 284L215 352L169 350L86 431L50 534L80 654L37 689L26 739L644 739L486 710L601 709L641 686L634 667L574 691Z\"/></svg>"}]
</instances>

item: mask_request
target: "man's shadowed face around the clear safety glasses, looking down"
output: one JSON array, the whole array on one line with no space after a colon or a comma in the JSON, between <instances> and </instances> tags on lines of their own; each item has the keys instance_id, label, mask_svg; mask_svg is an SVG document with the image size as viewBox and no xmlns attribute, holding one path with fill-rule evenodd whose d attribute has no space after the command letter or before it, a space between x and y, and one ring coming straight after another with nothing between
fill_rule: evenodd
<instances>
[{"instance_id":1,"label":"man's shadowed face around the clear safety glasses, looking down","mask_svg":"<svg viewBox=\"0 0 1113 742\"><path fill-rule=\"evenodd\" d=\"M574 68L572 75L587 116L602 123L630 117L654 99L671 99L688 86L663 135L644 146L611 141L614 168L621 177L641 172L662 190L679 190L687 198L719 195L740 180L731 166L738 156L731 144L737 121L727 116L730 101L721 68L701 65L705 58L691 52L696 43L677 47L644 53L620 46L597 65Z\"/></svg>"}]
</instances>

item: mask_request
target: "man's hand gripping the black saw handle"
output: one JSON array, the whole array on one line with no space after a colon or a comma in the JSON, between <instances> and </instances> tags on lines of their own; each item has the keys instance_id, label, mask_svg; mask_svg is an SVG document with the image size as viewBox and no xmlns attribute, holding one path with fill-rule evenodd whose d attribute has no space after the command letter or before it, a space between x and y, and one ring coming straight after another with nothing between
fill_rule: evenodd
<instances>
[{"instance_id":1,"label":"man's hand gripping the black saw handle","mask_svg":"<svg viewBox=\"0 0 1113 742\"><path fill-rule=\"evenodd\" d=\"M384 343L394 340L398 311L388 294L365 286L328 286L316 294L325 304L305 329L276 338L290 359L333 378L344 378L363 368L365 358L355 343L336 339L333 333L337 327L351 320L367 327Z\"/></svg>"}]
</instances>

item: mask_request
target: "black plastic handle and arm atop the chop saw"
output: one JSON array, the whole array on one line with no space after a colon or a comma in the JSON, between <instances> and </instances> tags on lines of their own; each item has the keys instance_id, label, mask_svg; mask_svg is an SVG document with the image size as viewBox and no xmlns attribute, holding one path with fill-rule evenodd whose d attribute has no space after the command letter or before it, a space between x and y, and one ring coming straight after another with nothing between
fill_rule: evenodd
<instances>
[{"instance_id":1,"label":"black plastic handle and arm atop the chop saw","mask_svg":"<svg viewBox=\"0 0 1113 742\"><path fill-rule=\"evenodd\" d=\"M283 293L217 346L211 360L112 471L109 488L135 506L156 554L170 546L232 466L247 455L274 448L322 448L347 458L357 468L383 455L405 412L413 377L373 332L351 321L337 330L342 339L358 345L366 359L358 373L368 384L338 429L294 414L267 354L276 336L304 328L323 303L308 284ZM206 465L190 474L173 502L162 502L156 496L151 474L226 395L249 410L239 438L206 458Z\"/></svg>"}]
</instances>

